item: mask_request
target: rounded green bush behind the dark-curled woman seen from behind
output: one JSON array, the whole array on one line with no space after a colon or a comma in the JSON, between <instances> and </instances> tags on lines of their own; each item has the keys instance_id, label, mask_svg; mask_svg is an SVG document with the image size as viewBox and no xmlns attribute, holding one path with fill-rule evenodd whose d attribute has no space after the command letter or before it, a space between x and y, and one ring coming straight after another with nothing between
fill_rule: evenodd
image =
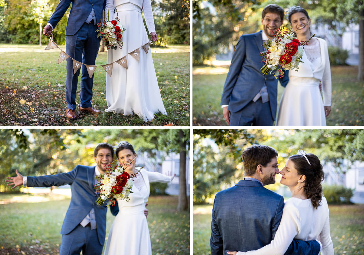
<instances>
[{"instance_id":1,"label":"rounded green bush behind the dark-curled woman seen from behind","mask_svg":"<svg viewBox=\"0 0 364 255\"><path fill-rule=\"evenodd\" d=\"M351 204L353 190L343 185L323 185L323 194L329 204Z\"/></svg>"}]
</instances>

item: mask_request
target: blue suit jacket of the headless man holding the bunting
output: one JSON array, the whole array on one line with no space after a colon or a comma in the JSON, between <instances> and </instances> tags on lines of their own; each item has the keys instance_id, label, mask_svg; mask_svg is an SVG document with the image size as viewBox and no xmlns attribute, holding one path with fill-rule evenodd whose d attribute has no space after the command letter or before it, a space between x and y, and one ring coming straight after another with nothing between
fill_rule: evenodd
<instances>
[{"instance_id":1,"label":"blue suit jacket of the headless man holding the bunting","mask_svg":"<svg viewBox=\"0 0 364 255\"><path fill-rule=\"evenodd\" d=\"M48 23L56 27L66 13L72 2L70 16L68 16L66 36L74 35L87 20L92 7L94 7L96 21L102 20L102 10L105 9L106 0L60 0Z\"/></svg>"}]
</instances>

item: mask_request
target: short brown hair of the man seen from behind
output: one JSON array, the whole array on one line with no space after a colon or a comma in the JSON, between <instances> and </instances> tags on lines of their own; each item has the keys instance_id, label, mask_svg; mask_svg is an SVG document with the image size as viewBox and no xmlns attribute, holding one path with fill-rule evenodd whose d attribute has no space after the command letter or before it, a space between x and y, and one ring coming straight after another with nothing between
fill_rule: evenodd
<instances>
[{"instance_id":1,"label":"short brown hair of the man seen from behind","mask_svg":"<svg viewBox=\"0 0 364 255\"><path fill-rule=\"evenodd\" d=\"M258 165L268 164L272 158L277 157L277 151L267 145L253 144L241 154L244 164L244 176L253 175Z\"/></svg>"}]
</instances>

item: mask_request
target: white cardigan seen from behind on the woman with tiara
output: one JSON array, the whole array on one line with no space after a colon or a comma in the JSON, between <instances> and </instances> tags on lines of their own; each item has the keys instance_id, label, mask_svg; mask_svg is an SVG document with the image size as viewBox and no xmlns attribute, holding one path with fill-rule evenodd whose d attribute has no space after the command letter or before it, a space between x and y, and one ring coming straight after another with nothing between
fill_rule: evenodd
<instances>
[{"instance_id":1,"label":"white cardigan seen from behind on the woman with tiara","mask_svg":"<svg viewBox=\"0 0 364 255\"><path fill-rule=\"evenodd\" d=\"M321 254L334 254L326 198L322 198L317 209L312 206L311 199L288 199L272 242L259 250L238 252L237 255L282 255L293 239L319 240L322 243Z\"/></svg>"}]
</instances>

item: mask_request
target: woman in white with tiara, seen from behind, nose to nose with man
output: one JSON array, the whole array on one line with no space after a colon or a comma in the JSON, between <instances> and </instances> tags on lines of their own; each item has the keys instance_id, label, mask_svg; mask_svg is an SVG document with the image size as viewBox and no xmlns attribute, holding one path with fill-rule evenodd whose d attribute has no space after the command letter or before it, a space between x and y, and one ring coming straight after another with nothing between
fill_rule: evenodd
<instances>
[{"instance_id":1,"label":"woman in white with tiara, seen from behind, nose to nose with man","mask_svg":"<svg viewBox=\"0 0 364 255\"><path fill-rule=\"evenodd\" d=\"M334 255L330 235L329 208L322 197L321 181L324 172L314 154L300 153L289 157L282 174L281 184L289 187L292 198L283 208L281 222L270 244L256 251L227 252L230 255L282 255L293 239L318 240L322 255Z\"/></svg>"}]
</instances>

